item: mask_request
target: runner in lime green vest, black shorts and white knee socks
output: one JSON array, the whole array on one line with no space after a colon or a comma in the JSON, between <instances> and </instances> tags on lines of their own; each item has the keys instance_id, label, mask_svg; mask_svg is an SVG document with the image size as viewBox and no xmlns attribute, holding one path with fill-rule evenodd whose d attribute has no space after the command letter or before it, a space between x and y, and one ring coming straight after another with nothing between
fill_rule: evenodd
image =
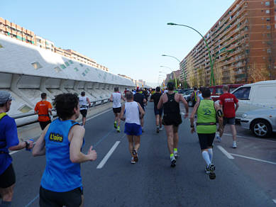
<instances>
[{"instance_id":1,"label":"runner in lime green vest, black shorts and white knee socks","mask_svg":"<svg viewBox=\"0 0 276 207\"><path fill-rule=\"evenodd\" d=\"M210 179L215 179L215 165L212 163L213 142L216 134L216 115L219 118L219 132L223 133L222 116L220 107L210 100L210 89L202 91L203 100L194 105L190 116L191 133L194 133L194 116L197 113L197 135L199 136L199 145L202 149L202 157L206 162L206 174Z\"/></svg>"}]
</instances>

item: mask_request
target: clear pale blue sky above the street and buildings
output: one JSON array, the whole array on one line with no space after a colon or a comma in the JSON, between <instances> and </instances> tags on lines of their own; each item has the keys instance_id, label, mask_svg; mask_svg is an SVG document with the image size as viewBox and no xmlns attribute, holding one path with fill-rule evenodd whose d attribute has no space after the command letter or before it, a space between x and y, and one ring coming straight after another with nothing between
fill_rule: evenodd
<instances>
[{"instance_id":1,"label":"clear pale blue sky above the street and buildings","mask_svg":"<svg viewBox=\"0 0 276 207\"><path fill-rule=\"evenodd\" d=\"M126 74L149 83L158 82L160 65L178 69L200 36L184 27L197 28L203 35L234 0L48 0L3 1L1 17L55 46L72 49L109 67L111 73Z\"/></svg>"}]
</instances>

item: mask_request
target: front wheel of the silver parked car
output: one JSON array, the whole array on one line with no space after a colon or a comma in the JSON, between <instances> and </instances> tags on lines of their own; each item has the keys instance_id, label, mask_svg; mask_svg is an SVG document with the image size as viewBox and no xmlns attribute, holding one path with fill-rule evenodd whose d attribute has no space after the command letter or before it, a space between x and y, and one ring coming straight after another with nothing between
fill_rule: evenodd
<instances>
[{"instance_id":1,"label":"front wheel of the silver parked car","mask_svg":"<svg viewBox=\"0 0 276 207\"><path fill-rule=\"evenodd\" d=\"M270 123L262 119L253 121L251 130L253 134L259 138L265 138L272 132Z\"/></svg>"}]
</instances>

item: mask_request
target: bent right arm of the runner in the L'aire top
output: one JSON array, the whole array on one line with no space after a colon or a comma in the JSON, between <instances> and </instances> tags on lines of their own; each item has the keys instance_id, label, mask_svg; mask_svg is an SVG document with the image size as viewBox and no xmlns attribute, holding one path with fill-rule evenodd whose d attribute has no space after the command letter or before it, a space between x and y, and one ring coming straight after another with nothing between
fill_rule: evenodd
<instances>
[{"instance_id":1,"label":"bent right arm of the runner in the L'aire top","mask_svg":"<svg viewBox=\"0 0 276 207\"><path fill-rule=\"evenodd\" d=\"M70 142L70 160L73 163L82 163L96 160L96 151L92 150L92 146L87 152L87 155L81 152L84 133L85 129L83 127L80 125L74 125L68 135L68 138L72 136Z\"/></svg>"}]
</instances>

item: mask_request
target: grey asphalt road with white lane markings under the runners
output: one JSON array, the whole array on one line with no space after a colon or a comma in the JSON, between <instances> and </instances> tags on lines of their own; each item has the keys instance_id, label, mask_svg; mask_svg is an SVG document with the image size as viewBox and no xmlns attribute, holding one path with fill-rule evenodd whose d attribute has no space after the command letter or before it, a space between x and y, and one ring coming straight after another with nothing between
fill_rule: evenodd
<instances>
[{"instance_id":1,"label":"grey asphalt road with white lane markings under the runners","mask_svg":"<svg viewBox=\"0 0 276 207\"><path fill-rule=\"evenodd\" d=\"M239 138L238 148L234 150L230 147L231 137L224 135L222 142L214 142L216 179L210 180L204 173L197 135L189 133L187 119L180 125L180 158L175 168L170 167L165 131L155 132L153 104L148 104L146 109L145 133L136 164L130 162L123 124L122 132L116 133L113 119L109 110L87 121L85 126L83 151L87 152L89 146L94 145L98 159L82 164L84 206L276 205L273 202L276 198L276 142L273 140ZM229 159L227 154L234 159ZM45 157L32 157L26 150L12 157L16 171L12 206L39 206L38 191Z\"/></svg>"}]
</instances>

